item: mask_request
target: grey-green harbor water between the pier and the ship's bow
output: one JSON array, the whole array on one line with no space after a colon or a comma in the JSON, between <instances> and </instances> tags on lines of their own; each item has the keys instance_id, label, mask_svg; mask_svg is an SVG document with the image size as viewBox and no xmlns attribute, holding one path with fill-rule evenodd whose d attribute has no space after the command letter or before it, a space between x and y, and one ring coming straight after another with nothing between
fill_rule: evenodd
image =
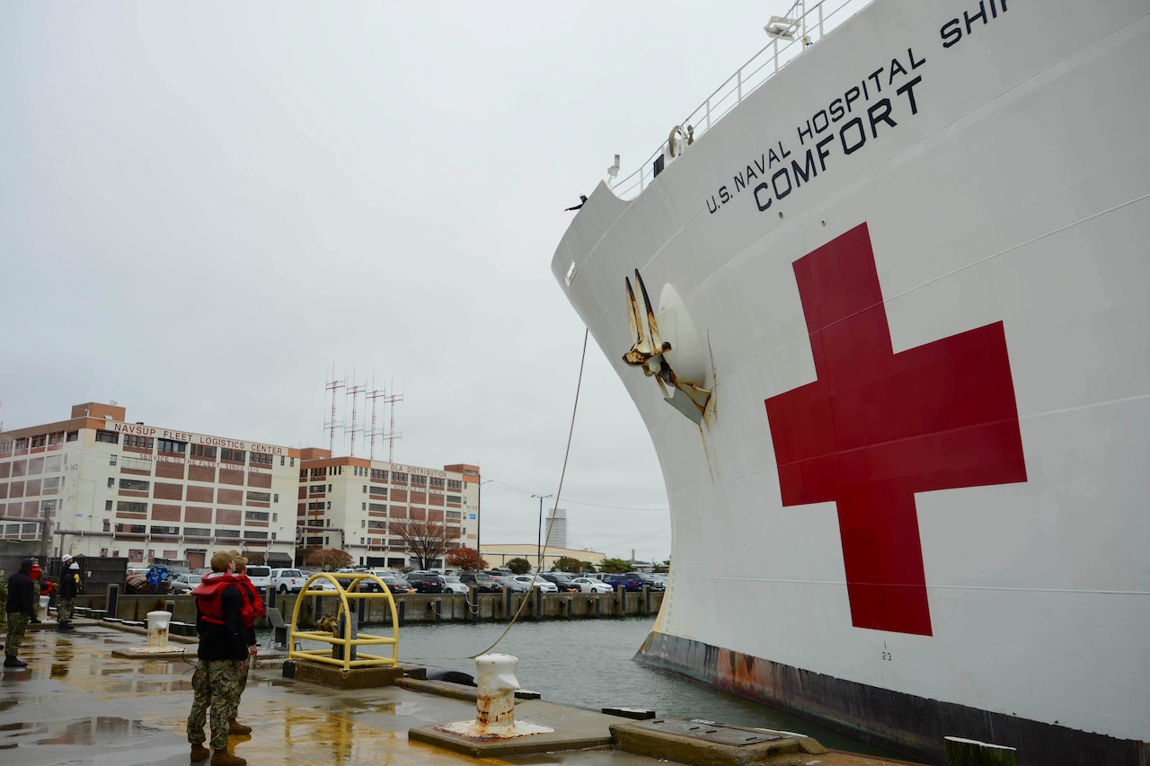
<instances>
[{"instance_id":1,"label":"grey-green harbor water between the pier and the ship's bow","mask_svg":"<svg viewBox=\"0 0 1150 766\"><path fill-rule=\"evenodd\" d=\"M400 629L401 661L475 674L471 656L486 651L519 658L519 682L544 699L582 707L641 707L661 717L799 731L823 745L898 758L890 750L843 736L805 719L634 661L654 625L651 618L409 625Z\"/></svg>"}]
</instances>

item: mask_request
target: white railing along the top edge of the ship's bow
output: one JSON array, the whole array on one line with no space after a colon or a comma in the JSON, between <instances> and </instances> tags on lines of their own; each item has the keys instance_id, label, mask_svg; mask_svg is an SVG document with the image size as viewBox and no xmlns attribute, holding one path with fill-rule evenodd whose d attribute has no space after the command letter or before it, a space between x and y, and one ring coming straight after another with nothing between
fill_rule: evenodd
<instances>
[{"instance_id":1,"label":"white railing along the top edge of the ship's bow","mask_svg":"<svg viewBox=\"0 0 1150 766\"><path fill-rule=\"evenodd\" d=\"M850 18L873 0L796 0L785 20L793 22L797 32L792 36L772 36L769 43L744 63L734 75L715 89L685 120L678 123L688 127L693 138L716 124L743 99L774 77L780 69L799 56L807 47L821 40L830 30ZM769 24L768 24L769 26ZM789 39L792 38L792 39ZM611 190L620 199L635 199L654 179L653 166L660 155L666 159L668 145L664 143L632 174L624 178L611 179Z\"/></svg>"}]
</instances>

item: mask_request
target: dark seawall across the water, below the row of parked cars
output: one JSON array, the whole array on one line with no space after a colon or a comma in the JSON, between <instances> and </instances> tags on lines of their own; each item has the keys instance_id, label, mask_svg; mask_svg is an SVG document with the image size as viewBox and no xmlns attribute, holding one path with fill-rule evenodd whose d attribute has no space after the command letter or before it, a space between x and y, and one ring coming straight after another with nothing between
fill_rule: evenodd
<instances>
[{"instance_id":1,"label":"dark seawall across the water, below the row of parked cars","mask_svg":"<svg viewBox=\"0 0 1150 766\"><path fill-rule=\"evenodd\" d=\"M109 588L110 590L110 588ZM520 620L593 620L620 616L642 616L658 614L662 605L664 591L626 592L616 590L612 593L543 593L538 590L530 593L405 593L394 596L396 610L400 625L416 622L506 622L511 620L520 605L526 600ZM268 593L266 602L275 606L290 621L296 600L300 596L288 593ZM107 610L109 600L115 602L115 616L121 620L147 619L153 610L169 610L172 618L179 622L195 622L195 599L192 596L171 593L137 595L123 593L122 589L115 597L79 596L76 605L93 610ZM335 614L339 608L336 596L306 596L300 607L300 622L313 625L313 620L323 614ZM361 603L361 622L368 625L388 625L391 612L383 599L365 599ZM266 626L264 626L266 627Z\"/></svg>"}]
</instances>

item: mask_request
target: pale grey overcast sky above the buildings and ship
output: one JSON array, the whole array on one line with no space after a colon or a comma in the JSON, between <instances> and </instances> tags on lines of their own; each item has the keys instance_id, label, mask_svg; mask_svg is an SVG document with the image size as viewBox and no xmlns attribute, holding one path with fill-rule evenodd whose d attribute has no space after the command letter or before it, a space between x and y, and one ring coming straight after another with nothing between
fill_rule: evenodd
<instances>
[{"instance_id":1,"label":"pale grey overcast sky above the buildings and ship","mask_svg":"<svg viewBox=\"0 0 1150 766\"><path fill-rule=\"evenodd\" d=\"M583 345L550 273L564 208L788 6L0 5L3 428L115 400L328 447L335 367L402 395L396 462L482 466L485 542L534 542ZM559 505L574 547L670 554L650 438L593 343Z\"/></svg>"}]
</instances>

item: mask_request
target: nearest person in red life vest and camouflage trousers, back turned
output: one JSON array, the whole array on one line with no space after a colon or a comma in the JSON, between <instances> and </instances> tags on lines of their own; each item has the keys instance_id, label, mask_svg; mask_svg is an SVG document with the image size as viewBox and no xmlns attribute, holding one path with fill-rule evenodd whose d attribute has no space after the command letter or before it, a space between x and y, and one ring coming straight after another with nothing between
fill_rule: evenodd
<instances>
[{"instance_id":1,"label":"nearest person in red life vest and camouflage trousers, back turned","mask_svg":"<svg viewBox=\"0 0 1150 766\"><path fill-rule=\"evenodd\" d=\"M195 596L195 629L200 634L199 662L192 674L192 711L187 715L191 759L204 760L205 715L210 710L212 766L245 766L247 761L228 752L228 719L238 704L239 683L247 673L248 650L240 613L244 595L236 579L231 553L212 557L212 573L192 590ZM245 727L246 728L246 727ZM248 729L251 731L251 729Z\"/></svg>"}]
</instances>

